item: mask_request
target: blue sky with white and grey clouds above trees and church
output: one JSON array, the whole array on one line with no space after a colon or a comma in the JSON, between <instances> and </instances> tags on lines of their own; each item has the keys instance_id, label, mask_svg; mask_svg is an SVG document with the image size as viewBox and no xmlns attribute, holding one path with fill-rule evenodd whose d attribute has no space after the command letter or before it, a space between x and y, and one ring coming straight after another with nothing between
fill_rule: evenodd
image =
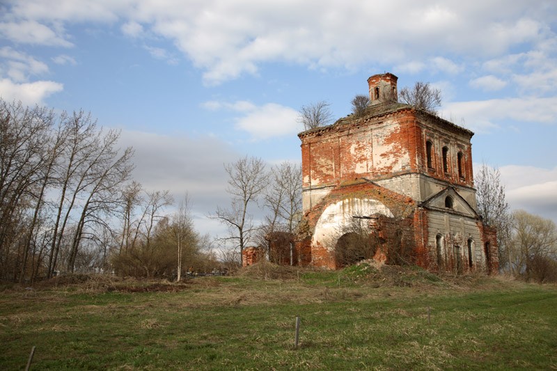
<instances>
[{"instance_id":1,"label":"blue sky with white and grey clouds above trees and church","mask_svg":"<svg viewBox=\"0 0 557 371\"><path fill-rule=\"evenodd\" d=\"M122 130L146 189L226 205L223 164L299 161L297 111L336 118L372 74L441 89L511 207L557 221L557 1L3 0L0 95Z\"/></svg>"}]
</instances>

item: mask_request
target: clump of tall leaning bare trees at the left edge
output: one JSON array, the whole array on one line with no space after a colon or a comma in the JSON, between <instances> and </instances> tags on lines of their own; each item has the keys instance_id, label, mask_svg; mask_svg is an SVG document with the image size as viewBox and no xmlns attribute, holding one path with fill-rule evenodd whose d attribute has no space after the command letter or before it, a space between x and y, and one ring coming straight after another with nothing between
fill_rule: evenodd
<instances>
[{"instance_id":1,"label":"clump of tall leaning bare trees at the left edge","mask_svg":"<svg viewBox=\"0 0 557 371\"><path fill-rule=\"evenodd\" d=\"M95 242L96 228L110 228L107 216L119 207L113 195L130 175L131 148L118 155L119 134L97 130L83 111L56 116L3 100L0 135L1 274L10 271L14 280L19 274L19 281L29 273L51 276L62 244L72 270L79 243Z\"/></svg>"}]
</instances>

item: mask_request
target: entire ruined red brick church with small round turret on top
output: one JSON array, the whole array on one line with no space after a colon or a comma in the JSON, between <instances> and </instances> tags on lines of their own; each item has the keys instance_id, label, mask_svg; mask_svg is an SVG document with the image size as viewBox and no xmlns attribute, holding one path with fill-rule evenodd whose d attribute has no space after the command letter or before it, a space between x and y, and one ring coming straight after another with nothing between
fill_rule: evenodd
<instances>
[{"instance_id":1,"label":"entire ruined red brick church with small round turret on top","mask_svg":"<svg viewBox=\"0 0 557 371\"><path fill-rule=\"evenodd\" d=\"M363 115L298 134L304 216L294 264L338 269L372 258L496 272L496 231L476 205L473 132L399 103L397 80L370 77Z\"/></svg>"}]
</instances>

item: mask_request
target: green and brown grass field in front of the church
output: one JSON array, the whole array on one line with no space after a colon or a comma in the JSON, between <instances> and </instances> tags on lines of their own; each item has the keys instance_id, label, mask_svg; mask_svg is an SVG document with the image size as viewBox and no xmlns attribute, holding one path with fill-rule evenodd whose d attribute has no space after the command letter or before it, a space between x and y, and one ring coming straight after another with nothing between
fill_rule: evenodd
<instances>
[{"instance_id":1,"label":"green and brown grass field in front of the church","mask_svg":"<svg viewBox=\"0 0 557 371\"><path fill-rule=\"evenodd\" d=\"M0 297L0 370L556 370L557 286L368 265ZM299 316L299 344L295 320Z\"/></svg>"}]
</instances>

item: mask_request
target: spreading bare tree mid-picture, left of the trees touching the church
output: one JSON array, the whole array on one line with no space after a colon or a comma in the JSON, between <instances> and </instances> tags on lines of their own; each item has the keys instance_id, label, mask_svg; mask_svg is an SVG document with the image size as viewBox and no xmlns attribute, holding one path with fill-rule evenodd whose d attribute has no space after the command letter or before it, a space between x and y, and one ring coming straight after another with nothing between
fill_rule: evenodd
<instances>
[{"instance_id":1,"label":"spreading bare tree mid-picture, left of the trees touching the church","mask_svg":"<svg viewBox=\"0 0 557 371\"><path fill-rule=\"evenodd\" d=\"M256 230L251 221L249 206L256 203L258 197L267 185L265 163L256 157L243 157L224 166L228 173L228 187L230 207L217 207L217 211L210 218L217 219L228 227L226 242L233 242L242 256L244 248L251 242L252 234Z\"/></svg>"}]
</instances>

